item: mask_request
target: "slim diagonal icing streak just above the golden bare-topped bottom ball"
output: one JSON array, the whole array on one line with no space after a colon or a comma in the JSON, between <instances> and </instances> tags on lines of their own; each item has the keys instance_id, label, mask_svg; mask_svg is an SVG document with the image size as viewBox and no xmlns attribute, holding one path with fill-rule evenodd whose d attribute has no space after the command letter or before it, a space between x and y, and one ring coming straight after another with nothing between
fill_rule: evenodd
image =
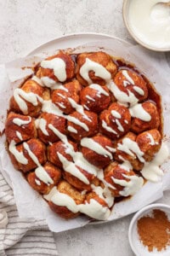
<instances>
[{"instance_id":1,"label":"slim diagonal icing streak just above the golden bare-topped bottom ball","mask_svg":"<svg viewBox=\"0 0 170 256\"><path fill-rule=\"evenodd\" d=\"M61 163L63 165L63 169L65 170L65 172L69 172L69 173L71 173L71 175L77 177L83 183L89 184L88 178L77 168L76 164L67 160L59 152L57 152L57 154L59 156L59 160L61 161Z\"/></svg>"}]
</instances>

